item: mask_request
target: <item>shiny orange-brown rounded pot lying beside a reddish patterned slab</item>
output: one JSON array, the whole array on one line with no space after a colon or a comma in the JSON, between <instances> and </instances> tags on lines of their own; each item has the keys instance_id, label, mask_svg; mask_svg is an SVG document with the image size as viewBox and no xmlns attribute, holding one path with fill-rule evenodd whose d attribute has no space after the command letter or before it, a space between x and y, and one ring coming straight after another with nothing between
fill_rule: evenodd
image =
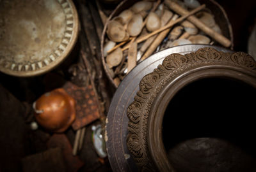
<instances>
[{"instance_id":1,"label":"shiny orange-brown rounded pot lying beside a reddish patterned slab","mask_svg":"<svg viewBox=\"0 0 256 172\"><path fill-rule=\"evenodd\" d=\"M64 89L56 89L42 95L33 104L38 124L48 131L61 133L76 118L76 101Z\"/></svg>"}]
</instances>

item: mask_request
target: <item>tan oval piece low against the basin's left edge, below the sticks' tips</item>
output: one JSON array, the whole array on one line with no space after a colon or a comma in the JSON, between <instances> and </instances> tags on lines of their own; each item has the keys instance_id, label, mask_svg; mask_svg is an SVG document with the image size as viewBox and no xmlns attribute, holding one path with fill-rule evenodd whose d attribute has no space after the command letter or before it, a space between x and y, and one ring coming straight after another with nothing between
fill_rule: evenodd
<instances>
[{"instance_id":1,"label":"tan oval piece low against the basin's left edge, below the sticks' tips","mask_svg":"<svg viewBox=\"0 0 256 172\"><path fill-rule=\"evenodd\" d=\"M115 51L111 52L111 54L109 54L106 57L106 62L108 64L108 67L111 69L114 66L117 66L122 61L122 58L123 58L123 52L121 48L116 48Z\"/></svg>"}]
</instances>

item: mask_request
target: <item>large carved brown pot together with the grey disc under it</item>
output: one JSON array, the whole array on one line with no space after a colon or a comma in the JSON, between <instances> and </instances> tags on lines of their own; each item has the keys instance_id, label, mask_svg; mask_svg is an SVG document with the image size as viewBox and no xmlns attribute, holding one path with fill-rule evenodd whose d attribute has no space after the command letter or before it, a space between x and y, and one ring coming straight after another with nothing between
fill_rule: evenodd
<instances>
[{"instance_id":1,"label":"large carved brown pot together with the grey disc under it","mask_svg":"<svg viewBox=\"0 0 256 172\"><path fill-rule=\"evenodd\" d=\"M182 45L148 57L111 101L113 171L253 171L255 96L248 54Z\"/></svg>"}]
</instances>

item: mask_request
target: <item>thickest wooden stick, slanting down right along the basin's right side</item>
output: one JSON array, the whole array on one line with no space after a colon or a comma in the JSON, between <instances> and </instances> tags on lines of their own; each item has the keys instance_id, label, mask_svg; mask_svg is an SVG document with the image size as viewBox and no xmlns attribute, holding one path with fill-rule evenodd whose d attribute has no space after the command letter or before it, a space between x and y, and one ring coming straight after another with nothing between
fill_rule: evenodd
<instances>
[{"instance_id":1,"label":"thickest wooden stick, slanting down right along the basin's right side","mask_svg":"<svg viewBox=\"0 0 256 172\"><path fill-rule=\"evenodd\" d=\"M188 10L182 8L179 4L173 2L172 0L165 0L164 3L166 6L168 6L171 10L175 11L179 15L187 15L189 13ZM215 39L220 43L221 45L225 47L230 47L231 41L227 39L225 36L219 34L218 32L212 30L210 27L205 25L203 22L201 22L198 18L196 18L194 15L191 15L188 17L188 20L196 25L199 29L204 31L206 34L211 36L211 38Z\"/></svg>"}]
</instances>

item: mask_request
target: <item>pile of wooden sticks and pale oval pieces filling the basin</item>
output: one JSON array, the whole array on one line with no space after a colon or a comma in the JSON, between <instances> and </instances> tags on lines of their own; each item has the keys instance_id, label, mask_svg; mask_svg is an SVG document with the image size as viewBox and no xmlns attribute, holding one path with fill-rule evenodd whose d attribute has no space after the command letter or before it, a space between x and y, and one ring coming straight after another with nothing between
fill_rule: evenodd
<instances>
[{"instance_id":1,"label":"pile of wooden sticks and pale oval pieces filling the basin","mask_svg":"<svg viewBox=\"0 0 256 172\"><path fill-rule=\"evenodd\" d=\"M207 12L209 9L205 8L205 4L198 3L187 10L179 2L139 1L109 21L109 39L106 38L103 51L116 87L138 62L159 49L215 42L230 47L231 41L221 34L220 27L214 21L214 16Z\"/></svg>"}]
</instances>

